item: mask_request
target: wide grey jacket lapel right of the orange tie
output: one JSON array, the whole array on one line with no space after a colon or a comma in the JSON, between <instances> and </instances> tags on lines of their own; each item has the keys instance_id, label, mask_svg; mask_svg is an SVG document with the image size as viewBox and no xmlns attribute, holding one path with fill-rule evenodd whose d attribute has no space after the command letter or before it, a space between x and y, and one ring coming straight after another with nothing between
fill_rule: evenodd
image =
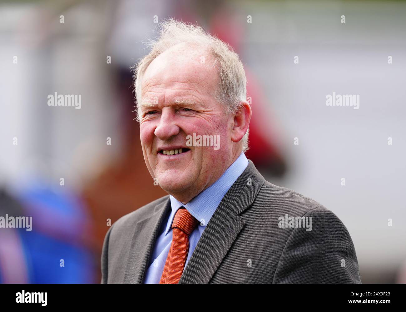
<instances>
[{"instance_id":1,"label":"wide grey jacket lapel right of the orange tie","mask_svg":"<svg viewBox=\"0 0 406 312\"><path fill-rule=\"evenodd\" d=\"M244 228L246 223L239 214L251 206L265 183L253 162L248 162L207 223L179 284L208 284Z\"/></svg>"}]
</instances>

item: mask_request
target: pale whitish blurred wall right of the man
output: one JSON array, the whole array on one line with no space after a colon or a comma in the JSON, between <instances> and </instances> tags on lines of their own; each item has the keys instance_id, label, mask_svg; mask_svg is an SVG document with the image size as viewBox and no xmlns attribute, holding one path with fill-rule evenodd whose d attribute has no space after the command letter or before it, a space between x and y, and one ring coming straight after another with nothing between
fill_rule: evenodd
<instances>
[{"instance_id":1,"label":"pale whitish blurred wall right of the man","mask_svg":"<svg viewBox=\"0 0 406 312\"><path fill-rule=\"evenodd\" d=\"M260 78L292 165L272 182L333 210L361 269L399 266L406 258L406 3L257 2L245 12L253 22L244 61ZM333 91L359 94L359 109L326 106Z\"/></svg>"}]
</instances>

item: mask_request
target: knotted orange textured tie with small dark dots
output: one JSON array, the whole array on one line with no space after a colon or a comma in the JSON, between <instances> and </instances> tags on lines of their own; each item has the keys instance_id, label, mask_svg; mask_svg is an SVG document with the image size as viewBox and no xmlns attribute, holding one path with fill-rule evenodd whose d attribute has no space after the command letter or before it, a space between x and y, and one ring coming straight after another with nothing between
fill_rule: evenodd
<instances>
[{"instance_id":1,"label":"knotted orange textured tie with small dark dots","mask_svg":"<svg viewBox=\"0 0 406 312\"><path fill-rule=\"evenodd\" d=\"M189 252L189 235L199 223L186 208L179 208L172 223L172 243L159 284L178 284Z\"/></svg>"}]
</instances>

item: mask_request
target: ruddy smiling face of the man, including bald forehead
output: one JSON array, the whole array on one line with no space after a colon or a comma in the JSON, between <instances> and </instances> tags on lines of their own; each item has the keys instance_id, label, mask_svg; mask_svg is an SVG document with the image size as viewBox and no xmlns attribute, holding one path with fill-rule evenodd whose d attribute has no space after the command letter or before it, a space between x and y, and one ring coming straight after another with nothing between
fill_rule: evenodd
<instances>
[{"instance_id":1,"label":"ruddy smiling face of the man, including bald forehead","mask_svg":"<svg viewBox=\"0 0 406 312\"><path fill-rule=\"evenodd\" d=\"M155 58L143 76L138 103L145 163L162 189L178 199L188 198L176 196L182 193L197 195L231 165L233 117L212 96L217 84L207 52L185 45ZM219 136L220 148L188 146L186 137L194 133ZM178 153L169 155L170 150Z\"/></svg>"}]
</instances>

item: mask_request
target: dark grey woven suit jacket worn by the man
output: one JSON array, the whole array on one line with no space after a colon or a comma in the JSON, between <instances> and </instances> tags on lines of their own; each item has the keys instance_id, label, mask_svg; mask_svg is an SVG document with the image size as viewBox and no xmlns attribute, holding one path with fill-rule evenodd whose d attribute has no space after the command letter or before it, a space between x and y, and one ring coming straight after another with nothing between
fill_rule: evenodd
<instances>
[{"instance_id":1,"label":"dark grey woven suit jacket worn by the man","mask_svg":"<svg viewBox=\"0 0 406 312\"><path fill-rule=\"evenodd\" d=\"M108 230L102 283L143 283L169 195L121 217ZM280 217L312 217L312 229L281 228ZM308 219L310 220L310 218ZM207 223L179 284L361 283L340 219L313 199L271 184L253 162Z\"/></svg>"}]
</instances>

